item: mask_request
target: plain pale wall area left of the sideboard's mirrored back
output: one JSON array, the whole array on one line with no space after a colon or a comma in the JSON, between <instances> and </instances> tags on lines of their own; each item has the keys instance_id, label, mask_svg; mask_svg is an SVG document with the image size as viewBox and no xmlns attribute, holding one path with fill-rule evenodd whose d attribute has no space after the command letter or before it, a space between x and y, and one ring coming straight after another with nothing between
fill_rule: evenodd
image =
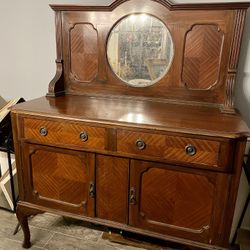
<instances>
[{"instance_id":1,"label":"plain pale wall area left of the sideboard's mirrored back","mask_svg":"<svg viewBox=\"0 0 250 250\"><path fill-rule=\"evenodd\" d=\"M50 3L65 0L0 0L0 95L26 100L45 95L55 74L55 25ZM89 4L110 1L88 1Z\"/></svg>"}]
</instances>

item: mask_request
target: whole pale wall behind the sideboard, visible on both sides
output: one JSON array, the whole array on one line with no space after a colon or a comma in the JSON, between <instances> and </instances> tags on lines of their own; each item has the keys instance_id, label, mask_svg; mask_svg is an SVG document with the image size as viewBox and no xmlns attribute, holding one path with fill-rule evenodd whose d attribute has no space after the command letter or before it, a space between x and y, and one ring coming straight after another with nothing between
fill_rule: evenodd
<instances>
[{"instance_id":1,"label":"whole pale wall behind the sideboard, visible on both sides","mask_svg":"<svg viewBox=\"0 0 250 250\"><path fill-rule=\"evenodd\" d=\"M247 1L242 0L242 2ZM29 100L47 93L48 83L55 74L56 58L54 13L48 6L49 3L107 5L111 2L111 0L0 0L0 95L6 99L22 96ZM250 126L250 10L247 14L240 56L236 106ZM244 176L242 178L244 179ZM248 187L244 183L241 184L243 188L241 186L236 215L239 215L246 196ZM250 228L249 217L244 224L248 228Z\"/></svg>"}]
</instances>

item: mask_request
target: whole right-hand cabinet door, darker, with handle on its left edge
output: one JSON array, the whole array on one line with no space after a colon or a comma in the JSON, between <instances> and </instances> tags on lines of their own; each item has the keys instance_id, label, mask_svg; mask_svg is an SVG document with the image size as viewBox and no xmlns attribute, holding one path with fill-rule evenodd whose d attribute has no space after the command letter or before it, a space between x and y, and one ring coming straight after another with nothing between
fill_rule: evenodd
<instances>
[{"instance_id":1,"label":"whole right-hand cabinet door, darker, with handle on its left edge","mask_svg":"<svg viewBox=\"0 0 250 250\"><path fill-rule=\"evenodd\" d=\"M224 175L219 181L216 173L179 169L182 171L165 164L131 162L129 223L154 232L211 243L213 230L221 224L223 214L215 212L216 207L221 202L223 211L225 203L216 189L219 182L224 182L223 188L227 188L227 178Z\"/></svg>"}]
</instances>

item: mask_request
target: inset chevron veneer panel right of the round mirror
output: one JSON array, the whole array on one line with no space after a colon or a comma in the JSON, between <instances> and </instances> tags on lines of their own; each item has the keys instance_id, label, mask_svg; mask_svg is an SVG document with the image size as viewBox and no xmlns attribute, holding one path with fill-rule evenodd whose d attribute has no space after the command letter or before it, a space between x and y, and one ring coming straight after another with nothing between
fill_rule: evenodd
<instances>
[{"instance_id":1,"label":"inset chevron veneer panel right of the round mirror","mask_svg":"<svg viewBox=\"0 0 250 250\"><path fill-rule=\"evenodd\" d=\"M188 89L210 89L219 81L224 34L216 25L194 25L185 40L182 79Z\"/></svg>"}]
</instances>

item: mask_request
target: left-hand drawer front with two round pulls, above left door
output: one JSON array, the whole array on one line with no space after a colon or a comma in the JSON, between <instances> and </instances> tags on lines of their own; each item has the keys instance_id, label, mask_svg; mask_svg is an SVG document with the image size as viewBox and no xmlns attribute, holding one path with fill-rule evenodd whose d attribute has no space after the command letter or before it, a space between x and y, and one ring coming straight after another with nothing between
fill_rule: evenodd
<instances>
[{"instance_id":1,"label":"left-hand drawer front with two round pulls, above left door","mask_svg":"<svg viewBox=\"0 0 250 250\"><path fill-rule=\"evenodd\" d=\"M44 144L104 149L106 129L74 122L24 118L24 138Z\"/></svg>"}]
</instances>

